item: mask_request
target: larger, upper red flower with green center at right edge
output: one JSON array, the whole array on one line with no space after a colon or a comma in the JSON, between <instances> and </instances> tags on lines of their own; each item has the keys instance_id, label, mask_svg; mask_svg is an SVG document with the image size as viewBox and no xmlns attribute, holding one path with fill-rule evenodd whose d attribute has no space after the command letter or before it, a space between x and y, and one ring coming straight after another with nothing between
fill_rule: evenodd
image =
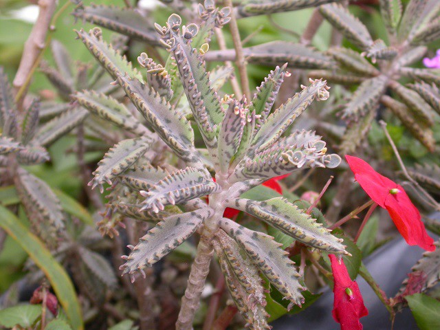
<instances>
[{"instance_id":1,"label":"larger, upper red flower with green center at right edge","mask_svg":"<svg viewBox=\"0 0 440 330\"><path fill-rule=\"evenodd\" d=\"M404 188L377 173L362 159L349 155L345 158L355 174L356 181L373 201L388 211L406 243L434 251L434 240L428 236L419 210L411 203Z\"/></svg>"}]
</instances>

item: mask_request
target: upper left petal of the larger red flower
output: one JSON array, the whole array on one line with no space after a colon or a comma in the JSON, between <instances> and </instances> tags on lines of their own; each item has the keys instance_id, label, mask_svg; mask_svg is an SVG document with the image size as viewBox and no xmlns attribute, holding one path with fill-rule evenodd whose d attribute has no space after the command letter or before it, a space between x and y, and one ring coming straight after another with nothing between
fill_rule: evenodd
<instances>
[{"instance_id":1,"label":"upper left petal of the larger red flower","mask_svg":"<svg viewBox=\"0 0 440 330\"><path fill-rule=\"evenodd\" d=\"M358 157L346 155L345 159L362 189L373 201L385 208L385 199L390 195L390 190L397 187L397 184L377 173L367 162Z\"/></svg>"}]
</instances>

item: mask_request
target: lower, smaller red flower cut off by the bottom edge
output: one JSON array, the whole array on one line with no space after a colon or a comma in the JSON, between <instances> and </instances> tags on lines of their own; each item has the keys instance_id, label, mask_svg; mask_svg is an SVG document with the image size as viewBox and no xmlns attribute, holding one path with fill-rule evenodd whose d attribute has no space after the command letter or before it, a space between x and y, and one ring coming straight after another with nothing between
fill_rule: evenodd
<instances>
[{"instance_id":1,"label":"lower, smaller red flower cut off by the bottom edge","mask_svg":"<svg viewBox=\"0 0 440 330\"><path fill-rule=\"evenodd\" d=\"M359 319L369 314L364 305L364 299L358 287L358 283L351 281L349 272L344 261L338 261L338 257L329 254L331 270L333 271L333 318L340 323L342 330L362 330Z\"/></svg>"}]
</instances>

